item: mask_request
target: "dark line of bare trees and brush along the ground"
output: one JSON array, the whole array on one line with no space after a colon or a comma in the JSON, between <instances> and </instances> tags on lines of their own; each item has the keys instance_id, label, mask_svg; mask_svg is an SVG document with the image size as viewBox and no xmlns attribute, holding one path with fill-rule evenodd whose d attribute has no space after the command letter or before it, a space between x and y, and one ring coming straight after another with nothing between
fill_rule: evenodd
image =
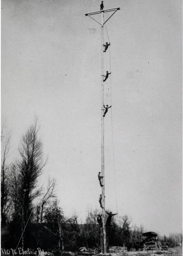
<instances>
[{"instance_id":1,"label":"dark line of bare trees and brush along the ground","mask_svg":"<svg viewBox=\"0 0 183 256\"><path fill-rule=\"evenodd\" d=\"M47 185L38 186L47 159L38 136L35 121L20 141L18 157L9 163L11 134L2 128L1 161L1 234L2 248L42 248L44 250L77 250L79 247L100 248L99 210L88 210L84 224L78 216L64 215L55 195L56 182L49 178ZM131 226L128 216L112 220L109 228L109 246L123 246L142 240L144 227ZM181 234L164 236L175 245Z\"/></svg>"}]
</instances>

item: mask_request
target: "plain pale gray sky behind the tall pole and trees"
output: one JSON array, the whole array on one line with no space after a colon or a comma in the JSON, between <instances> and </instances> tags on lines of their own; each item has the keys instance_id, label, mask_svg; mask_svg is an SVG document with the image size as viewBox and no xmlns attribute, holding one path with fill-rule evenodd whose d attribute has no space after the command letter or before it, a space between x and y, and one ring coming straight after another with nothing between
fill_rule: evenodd
<instances>
[{"instance_id":1,"label":"plain pale gray sky behind the tall pole and trees","mask_svg":"<svg viewBox=\"0 0 183 256\"><path fill-rule=\"evenodd\" d=\"M49 156L40 184L56 178L65 214L83 221L87 209L100 209L101 27L84 15L100 3L2 0L2 123L12 130L11 158L36 115ZM104 102L112 104L106 209L146 231L181 232L182 1L105 0L104 7L121 8L104 28L111 44Z\"/></svg>"}]
</instances>

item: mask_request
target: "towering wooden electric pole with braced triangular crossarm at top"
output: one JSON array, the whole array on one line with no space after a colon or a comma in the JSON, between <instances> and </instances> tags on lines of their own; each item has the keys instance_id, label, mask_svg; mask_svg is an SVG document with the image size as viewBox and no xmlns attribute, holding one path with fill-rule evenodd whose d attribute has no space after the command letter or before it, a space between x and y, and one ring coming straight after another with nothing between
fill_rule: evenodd
<instances>
[{"instance_id":1,"label":"towering wooden electric pole with braced triangular crossarm at top","mask_svg":"<svg viewBox=\"0 0 183 256\"><path fill-rule=\"evenodd\" d=\"M111 8L111 9L105 9L100 10L96 12L89 12L85 13L85 16L89 16L90 18L94 19L97 23L101 25L101 174L102 177L104 176L104 81L103 81L103 75L104 75L104 51L103 51L103 45L104 45L104 24L109 20L109 18L120 10L120 8ZM112 14L104 21L104 13L105 12L112 12ZM101 23L96 20L95 18L91 17L95 14L101 13ZM106 243L106 227L105 227L105 180L102 178L102 228L101 230L101 252L107 253L107 243ZM108 240L108 239L107 239Z\"/></svg>"}]
</instances>

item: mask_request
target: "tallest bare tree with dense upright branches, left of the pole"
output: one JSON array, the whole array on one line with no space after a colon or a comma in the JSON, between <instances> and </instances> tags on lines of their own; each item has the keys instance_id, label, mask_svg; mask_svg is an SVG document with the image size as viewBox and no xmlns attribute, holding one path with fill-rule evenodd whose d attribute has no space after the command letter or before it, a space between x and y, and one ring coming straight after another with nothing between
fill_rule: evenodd
<instances>
[{"instance_id":1,"label":"tallest bare tree with dense upright branches, left of the pole","mask_svg":"<svg viewBox=\"0 0 183 256\"><path fill-rule=\"evenodd\" d=\"M24 248L25 227L32 212L32 201L40 195L40 189L37 189L37 179L46 164L46 161L43 161L42 142L37 133L35 122L22 137L19 147L20 159L16 161L17 174L15 176L19 182L17 190L22 208L22 248Z\"/></svg>"}]
</instances>

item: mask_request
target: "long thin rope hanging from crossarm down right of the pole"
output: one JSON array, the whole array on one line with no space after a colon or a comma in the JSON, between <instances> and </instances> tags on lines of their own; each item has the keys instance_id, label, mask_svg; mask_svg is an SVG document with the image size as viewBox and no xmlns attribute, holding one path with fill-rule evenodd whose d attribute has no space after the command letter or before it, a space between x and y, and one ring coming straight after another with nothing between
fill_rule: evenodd
<instances>
[{"instance_id":1,"label":"long thin rope hanging from crossarm down right of the pole","mask_svg":"<svg viewBox=\"0 0 183 256\"><path fill-rule=\"evenodd\" d=\"M107 27L105 25L105 29L107 32ZM107 32L107 37L108 40L110 42L109 39L109 35ZM111 72L111 53L110 53L110 47L109 47L109 60L110 60L110 72ZM110 103L112 105L112 76L110 75ZM113 143L113 120L112 120L112 108L111 108L111 131L112 131L112 155L113 155L113 172L114 172L114 177L115 177L115 196L116 196L116 208L117 208L117 212L118 212L118 201L117 201L117 190L116 190L116 168L115 168L115 150L114 150L114 143ZM118 215L117 215L117 220L118 220Z\"/></svg>"}]
</instances>

